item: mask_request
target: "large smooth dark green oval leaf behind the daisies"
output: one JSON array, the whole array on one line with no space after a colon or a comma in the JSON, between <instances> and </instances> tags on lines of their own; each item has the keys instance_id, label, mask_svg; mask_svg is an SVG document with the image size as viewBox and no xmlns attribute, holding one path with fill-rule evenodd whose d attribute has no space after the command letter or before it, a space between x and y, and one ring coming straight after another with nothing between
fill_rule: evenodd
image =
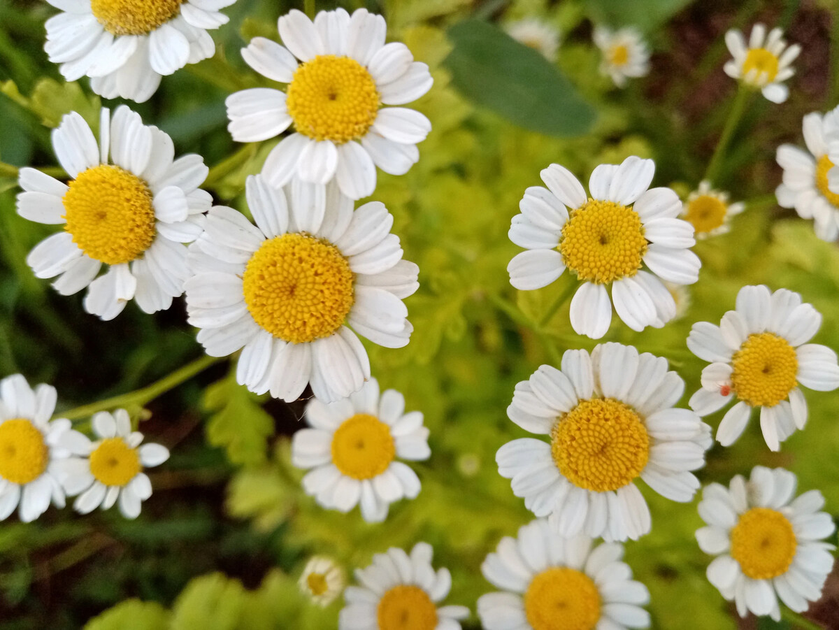
<instances>
[{"instance_id":1,"label":"large smooth dark green oval leaf behind the daisies","mask_svg":"<svg viewBox=\"0 0 839 630\"><path fill-rule=\"evenodd\" d=\"M592 107L534 49L474 19L451 27L448 38L454 48L443 65L472 102L552 136L579 136L591 128Z\"/></svg>"}]
</instances>

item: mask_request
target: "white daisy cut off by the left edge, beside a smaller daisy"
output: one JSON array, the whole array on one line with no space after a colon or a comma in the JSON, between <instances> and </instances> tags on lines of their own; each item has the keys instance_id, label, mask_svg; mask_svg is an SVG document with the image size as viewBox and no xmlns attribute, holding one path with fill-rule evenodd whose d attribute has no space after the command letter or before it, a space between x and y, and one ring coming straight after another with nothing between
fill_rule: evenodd
<instances>
[{"instance_id":1,"label":"white daisy cut off by the left edge, beside a smaller daisy","mask_svg":"<svg viewBox=\"0 0 839 630\"><path fill-rule=\"evenodd\" d=\"M55 388L29 388L20 374L0 381L0 521L18 505L23 523L46 512L50 501L64 508L57 466L70 456L59 445L70 420L50 422L55 400Z\"/></svg>"}]
</instances>

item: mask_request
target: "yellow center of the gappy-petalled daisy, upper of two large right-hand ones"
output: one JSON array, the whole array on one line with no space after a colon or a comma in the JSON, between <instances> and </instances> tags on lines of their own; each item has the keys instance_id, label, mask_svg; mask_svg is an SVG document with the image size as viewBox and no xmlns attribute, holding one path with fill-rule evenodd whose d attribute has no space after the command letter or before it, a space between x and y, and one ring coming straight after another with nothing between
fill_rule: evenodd
<instances>
[{"instance_id":1,"label":"yellow center of the gappy-petalled daisy, upper of two large right-hand ones","mask_svg":"<svg viewBox=\"0 0 839 630\"><path fill-rule=\"evenodd\" d=\"M589 199L571 211L558 249L577 278L606 284L638 273L647 239L638 212L613 201Z\"/></svg>"}]
</instances>

